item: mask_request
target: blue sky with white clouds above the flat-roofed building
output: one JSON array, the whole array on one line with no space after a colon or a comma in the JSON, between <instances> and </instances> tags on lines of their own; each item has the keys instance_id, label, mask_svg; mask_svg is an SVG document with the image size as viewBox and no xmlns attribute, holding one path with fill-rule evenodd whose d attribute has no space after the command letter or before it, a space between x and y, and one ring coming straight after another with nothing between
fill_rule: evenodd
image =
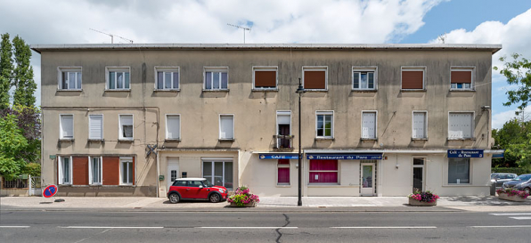
<instances>
[{"instance_id":1,"label":"blue sky with white clouds above the flat-roofed building","mask_svg":"<svg viewBox=\"0 0 531 243\"><path fill-rule=\"evenodd\" d=\"M115 43L502 44L531 59L530 0L0 0L0 33L29 45ZM116 36L124 37L121 39ZM40 56L31 59L40 104ZM514 117L493 70L493 128ZM531 112L531 108L527 109Z\"/></svg>"}]
</instances>

